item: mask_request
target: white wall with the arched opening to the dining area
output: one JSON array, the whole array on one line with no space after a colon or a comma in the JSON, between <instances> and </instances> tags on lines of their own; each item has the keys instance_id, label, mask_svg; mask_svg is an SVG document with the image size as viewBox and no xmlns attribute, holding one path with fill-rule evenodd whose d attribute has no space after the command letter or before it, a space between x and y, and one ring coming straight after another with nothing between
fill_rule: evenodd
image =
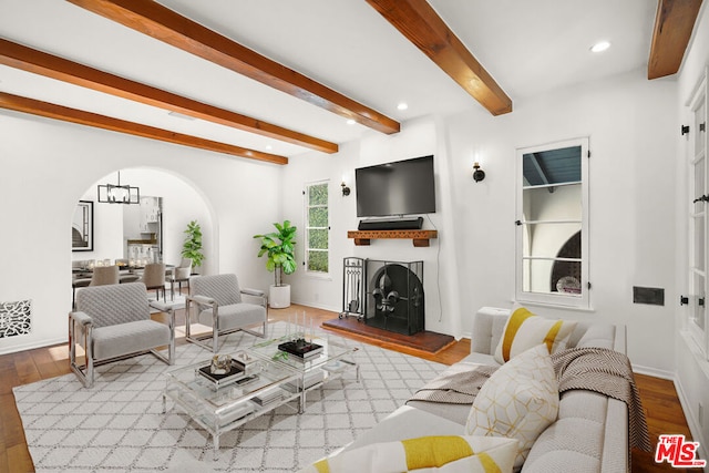
<instances>
[{"instance_id":1,"label":"white wall with the arched opening to the dining area","mask_svg":"<svg viewBox=\"0 0 709 473\"><path fill-rule=\"evenodd\" d=\"M74 206L123 168L167 169L191 183L213 217L214 234L205 239L215 255L210 271L268 286L251 236L281 213L281 166L8 111L0 112L0 300L31 299L33 326L29 336L0 339L0 352L66 340Z\"/></svg>"}]
</instances>

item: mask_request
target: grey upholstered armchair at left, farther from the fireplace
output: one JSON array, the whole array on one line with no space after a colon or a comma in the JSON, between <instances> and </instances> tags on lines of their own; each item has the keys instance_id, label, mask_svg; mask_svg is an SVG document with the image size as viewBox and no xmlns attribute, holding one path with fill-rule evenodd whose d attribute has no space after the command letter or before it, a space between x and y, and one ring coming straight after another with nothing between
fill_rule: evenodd
<instances>
[{"instance_id":1,"label":"grey upholstered armchair at left, farther from the fireplace","mask_svg":"<svg viewBox=\"0 0 709 473\"><path fill-rule=\"evenodd\" d=\"M168 322L151 319L150 306L168 313ZM84 363L76 360L84 348ZM166 347L167 353L158 351ZM175 315L160 301L148 305L143 282L90 286L76 292L76 310L69 313L69 361L85 388L94 367L150 351L167 364L175 359Z\"/></svg>"}]
</instances>

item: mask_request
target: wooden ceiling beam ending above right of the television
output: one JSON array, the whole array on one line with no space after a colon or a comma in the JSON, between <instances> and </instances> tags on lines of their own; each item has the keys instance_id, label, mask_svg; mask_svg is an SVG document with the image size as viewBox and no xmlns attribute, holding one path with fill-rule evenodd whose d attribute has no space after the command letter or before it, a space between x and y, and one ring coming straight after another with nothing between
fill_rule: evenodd
<instances>
[{"instance_id":1,"label":"wooden ceiling beam ending above right of the television","mask_svg":"<svg viewBox=\"0 0 709 473\"><path fill-rule=\"evenodd\" d=\"M512 112L512 100L427 0L367 0L493 115Z\"/></svg>"}]
</instances>

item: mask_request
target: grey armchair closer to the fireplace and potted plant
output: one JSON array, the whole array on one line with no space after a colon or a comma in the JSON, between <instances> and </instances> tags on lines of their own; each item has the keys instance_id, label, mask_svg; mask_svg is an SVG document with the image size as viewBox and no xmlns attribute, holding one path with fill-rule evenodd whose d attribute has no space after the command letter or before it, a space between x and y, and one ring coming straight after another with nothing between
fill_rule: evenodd
<instances>
[{"instance_id":1,"label":"grey armchair closer to the fireplace and potted plant","mask_svg":"<svg viewBox=\"0 0 709 473\"><path fill-rule=\"evenodd\" d=\"M242 296L260 299L260 304L245 302ZM193 276L189 280L189 296L186 298L185 338L202 348L217 352L218 337L244 330L258 337L266 337L268 317L266 294L256 289L239 288L236 275ZM193 310L194 308L194 310ZM193 319L212 327L212 335L192 337L189 325ZM263 325L260 333L246 327ZM212 346L203 340L212 338Z\"/></svg>"}]
</instances>

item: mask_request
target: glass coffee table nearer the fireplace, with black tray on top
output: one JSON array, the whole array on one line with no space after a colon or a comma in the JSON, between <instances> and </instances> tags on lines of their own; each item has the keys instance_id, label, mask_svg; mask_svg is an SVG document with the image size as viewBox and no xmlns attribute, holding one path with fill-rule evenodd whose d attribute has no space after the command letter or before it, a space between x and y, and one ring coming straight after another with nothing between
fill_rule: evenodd
<instances>
[{"instance_id":1,"label":"glass coffee table nearer the fireplace, with black tray on top","mask_svg":"<svg viewBox=\"0 0 709 473\"><path fill-rule=\"evenodd\" d=\"M282 343L294 340L307 340L306 343L314 343L320 349L312 356L299 357L279 348ZM255 358L277 362L299 373L300 412L304 412L308 391L341 378L343 372L352 369L359 382L359 364L353 358L357 350L357 347L348 347L346 340L339 337L331 337L321 330L314 330L312 327L309 329L296 327L294 332L256 343L246 349L246 352Z\"/></svg>"}]
</instances>

